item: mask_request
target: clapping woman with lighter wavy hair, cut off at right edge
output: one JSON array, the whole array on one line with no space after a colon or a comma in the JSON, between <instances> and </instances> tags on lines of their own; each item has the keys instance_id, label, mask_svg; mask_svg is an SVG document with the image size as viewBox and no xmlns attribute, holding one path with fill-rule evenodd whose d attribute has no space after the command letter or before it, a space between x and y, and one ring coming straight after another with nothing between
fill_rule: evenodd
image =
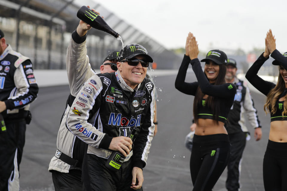
<instances>
[{"instance_id":1,"label":"clapping woman with lighter wavy hair, cut off at right edge","mask_svg":"<svg viewBox=\"0 0 287 191\"><path fill-rule=\"evenodd\" d=\"M279 66L277 84L265 81L257 73L269 55ZM265 52L249 68L246 79L267 96L265 112L271 115L270 133L263 159L263 182L266 191L287 190L287 52L276 50L275 38L269 30L265 38Z\"/></svg>"}]
</instances>

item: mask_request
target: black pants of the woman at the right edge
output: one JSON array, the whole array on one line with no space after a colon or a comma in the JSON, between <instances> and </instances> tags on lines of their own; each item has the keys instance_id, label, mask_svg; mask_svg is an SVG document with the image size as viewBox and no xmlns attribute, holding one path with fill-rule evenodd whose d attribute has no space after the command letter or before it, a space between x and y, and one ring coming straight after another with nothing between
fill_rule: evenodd
<instances>
[{"instance_id":1,"label":"black pants of the woman at the right edge","mask_svg":"<svg viewBox=\"0 0 287 191\"><path fill-rule=\"evenodd\" d=\"M287 190L287 143L268 140L263 159L265 191Z\"/></svg>"}]
</instances>

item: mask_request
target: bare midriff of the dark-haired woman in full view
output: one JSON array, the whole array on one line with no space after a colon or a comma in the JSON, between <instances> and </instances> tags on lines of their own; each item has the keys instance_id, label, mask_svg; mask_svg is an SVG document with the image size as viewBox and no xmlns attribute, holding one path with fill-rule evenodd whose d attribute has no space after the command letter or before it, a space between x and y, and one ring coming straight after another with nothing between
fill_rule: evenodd
<instances>
[{"instance_id":1,"label":"bare midriff of the dark-haired woman in full view","mask_svg":"<svg viewBox=\"0 0 287 191\"><path fill-rule=\"evenodd\" d=\"M287 122L287 121L286 121ZM213 135L213 134L227 134L224 123L218 121L214 123L213 119L199 118L195 130L196 135Z\"/></svg>"}]
</instances>

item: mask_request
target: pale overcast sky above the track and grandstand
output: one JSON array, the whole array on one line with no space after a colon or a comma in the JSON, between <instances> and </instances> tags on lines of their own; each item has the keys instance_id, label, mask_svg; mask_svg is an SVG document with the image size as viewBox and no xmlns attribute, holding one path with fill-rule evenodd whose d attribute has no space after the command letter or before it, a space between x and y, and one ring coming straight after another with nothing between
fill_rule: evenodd
<instances>
[{"instance_id":1,"label":"pale overcast sky above the track and grandstand","mask_svg":"<svg viewBox=\"0 0 287 191\"><path fill-rule=\"evenodd\" d=\"M85 3L85 0L76 0ZM103 0L96 1L168 49L184 47L192 32L200 50L264 48L269 28L277 49L287 51L286 1ZM91 1L88 1L91 2ZM90 3L92 6L95 3Z\"/></svg>"}]
</instances>

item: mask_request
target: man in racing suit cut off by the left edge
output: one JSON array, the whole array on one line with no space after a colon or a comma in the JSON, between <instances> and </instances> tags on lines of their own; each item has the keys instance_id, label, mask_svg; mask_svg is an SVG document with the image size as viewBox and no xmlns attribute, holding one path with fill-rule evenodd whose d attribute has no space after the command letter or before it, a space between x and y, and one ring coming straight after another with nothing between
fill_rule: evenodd
<instances>
[{"instance_id":1,"label":"man in racing suit cut off by the left edge","mask_svg":"<svg viewBox=\"0 0 287 191\"><path fill-rule=\"evenodd\" d=\"M30 123L30 103L38 86L30 59L12 50L0 30L0 112L6 128L0 129L0 190L19 190L19 165Z\"/></svg>"}]
</instances>

